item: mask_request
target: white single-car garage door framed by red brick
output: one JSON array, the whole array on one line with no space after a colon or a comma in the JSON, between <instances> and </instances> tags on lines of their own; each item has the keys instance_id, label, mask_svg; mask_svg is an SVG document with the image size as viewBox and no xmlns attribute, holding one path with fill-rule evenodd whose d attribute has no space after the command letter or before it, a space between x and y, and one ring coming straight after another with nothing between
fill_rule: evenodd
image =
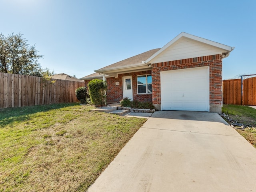
<instances>
[{"instance_id":1,"label":"white single-car garage door framed by red brick","mask_svg":"<svg viewBox=\"0 0 256 192\"><path fill-rule=\"evenodd\" d=\"M209 68L170 70L161 76L161 110L209 111Z\"/></svg>"}]
</instances>

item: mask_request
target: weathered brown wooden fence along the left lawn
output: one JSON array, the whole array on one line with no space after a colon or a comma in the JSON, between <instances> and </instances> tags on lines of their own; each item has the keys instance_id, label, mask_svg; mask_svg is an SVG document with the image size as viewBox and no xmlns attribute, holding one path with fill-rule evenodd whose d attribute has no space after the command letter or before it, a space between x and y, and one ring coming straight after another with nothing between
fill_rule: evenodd
<instances>
[{"instance_id":1,"label":"weathered brown wooden fence along the left lawn","mask_svg":"<svg viewBox=\"0 0 256 192\"><path fill-rule=\"evenodd\" d=\"M84 82L0 73L0 108L78 102L75 90Z\"/></svg>"}]
</instances>

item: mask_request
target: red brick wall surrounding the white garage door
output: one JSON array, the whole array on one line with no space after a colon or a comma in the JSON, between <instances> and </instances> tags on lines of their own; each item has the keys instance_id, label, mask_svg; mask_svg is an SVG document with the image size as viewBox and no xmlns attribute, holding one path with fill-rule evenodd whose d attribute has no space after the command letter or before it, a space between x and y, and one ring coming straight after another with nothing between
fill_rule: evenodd
<instances>
[{"instance_id":1,"label":"red brick wall surrounding the white garage door","mask_svg":"<svg viewBox=\"0 0 256 192\"><path fill-rule=\"evenodd\" d=\"M210 55L197 58L175 60L152 64L152 102L161 104L160 72L209 66L210 68L210 105L222 104L222 58L221 55Z\"/></svg>"}]
</instances>

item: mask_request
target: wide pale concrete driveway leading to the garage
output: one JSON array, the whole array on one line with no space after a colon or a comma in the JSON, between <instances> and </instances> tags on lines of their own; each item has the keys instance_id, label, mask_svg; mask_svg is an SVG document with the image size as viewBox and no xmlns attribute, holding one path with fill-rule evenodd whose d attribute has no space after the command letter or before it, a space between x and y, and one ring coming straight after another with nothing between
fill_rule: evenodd
<instances>
[{"instance_id":1,"label":"wide pale concrete driveway leading to the garage","mask_svg":"<svg viewBox=\"0 0 256 192\"><path fill-rule=\"evenodd\" d=\"M256 149L218 115L157 111L88 192L256 191Z\"/></svg>"}]
</instances>

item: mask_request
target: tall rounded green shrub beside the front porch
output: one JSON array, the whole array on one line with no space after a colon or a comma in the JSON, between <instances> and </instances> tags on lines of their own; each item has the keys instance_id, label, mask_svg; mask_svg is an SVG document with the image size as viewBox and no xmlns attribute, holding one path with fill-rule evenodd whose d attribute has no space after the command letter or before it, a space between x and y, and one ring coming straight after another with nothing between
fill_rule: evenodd
<instances>
[{"instance_id":1,"label":"tall rounded green shrub beside the front porch","mask_svg":"<svg viewBox=\"0 0 256 192\"><path fill-rule=\"evenodd\" d=\"M88 83L89 95L93 105L106 105L107 84L103 80L94 79Z\"/></svg>"}]
</instances>

